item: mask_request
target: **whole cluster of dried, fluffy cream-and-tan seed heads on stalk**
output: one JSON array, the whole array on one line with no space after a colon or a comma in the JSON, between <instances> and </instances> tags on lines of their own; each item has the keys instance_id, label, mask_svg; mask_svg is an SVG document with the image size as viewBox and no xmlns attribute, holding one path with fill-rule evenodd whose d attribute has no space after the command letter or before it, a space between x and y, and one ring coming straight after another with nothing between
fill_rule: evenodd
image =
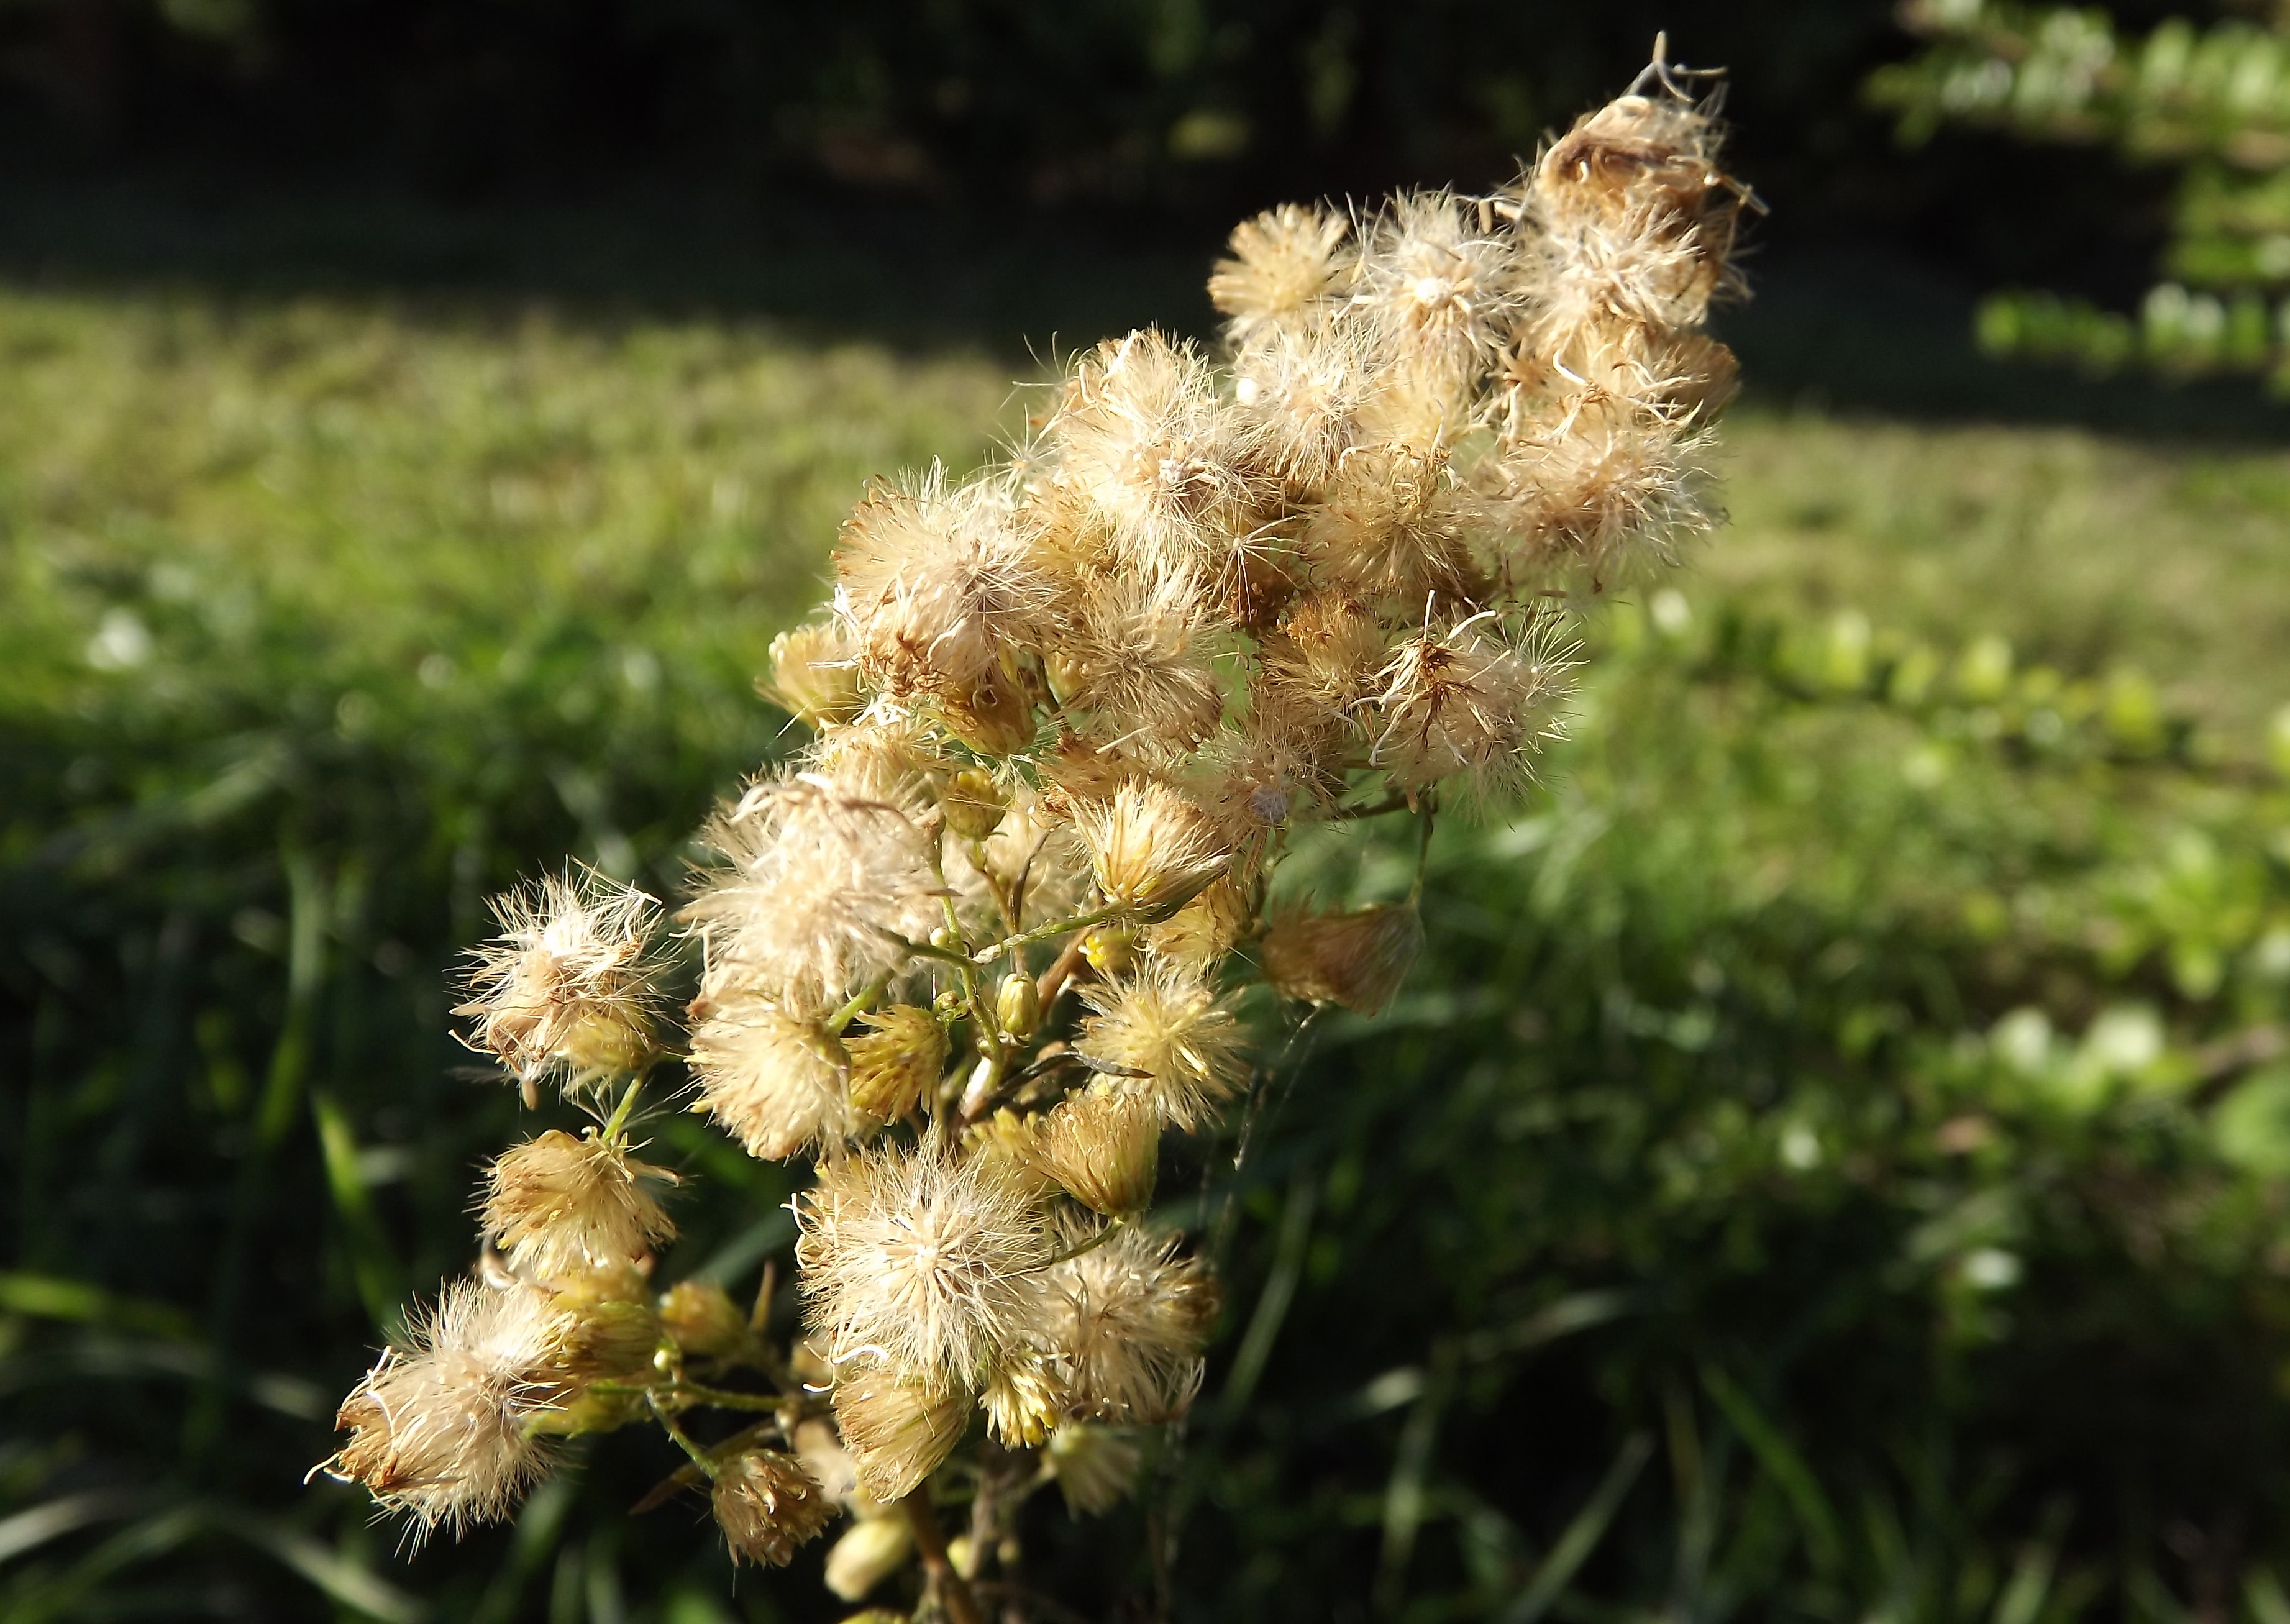
<instances>
[{"instance_id":1,"label":"whole cluster of dried, fluffy cream-and-tan seed heads on stalk","mask_svg":"<svg viewBox=\"0 0 2290 1624\"><path fill-rule=\"evenodd\" d=\"M680 935L595 877L499 905L472 1044L595 1125L492 1166L479 1276L327 1471L460 1530L650 1420L689 1454L655 1498L712 1493L737 1558L847 1516L838 1594L918 1562L925 1613L1024 1615L1024 1500L1106 1509L1200 1388L1216 1285L1150 1214L1163 1136L1253 1086L1241 983L1374 1012L1422 939L1413 896L1271 905L1294 831L1511 797L1569 616L1715 522L1701 323L1747 204L1715 144L1656 64L1509 190L1276 208L1209 282L1221 360L1131 332L1005 463L868 495L772 648L813 738L710 820ZM753 1312L648 1285L657 1077L813 1164L802 1326L769 1274Z\"/></svg>"}]
</instances>

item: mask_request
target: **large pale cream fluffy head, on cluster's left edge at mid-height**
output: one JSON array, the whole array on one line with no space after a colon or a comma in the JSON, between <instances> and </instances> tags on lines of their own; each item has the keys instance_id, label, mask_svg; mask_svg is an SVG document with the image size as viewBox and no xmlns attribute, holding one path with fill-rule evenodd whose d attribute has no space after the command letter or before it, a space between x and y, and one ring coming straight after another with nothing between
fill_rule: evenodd
<instances>
[{"instance_id":1,"label":"large pale cream fluffy head, on cluster's left edge at mid-height","mask_svg":"<svg viewBox=\"0 0 2290 1624\"><path fill-rule=\"evenodd\" d=\"M827 1010L907 962L939 921L930 845L898 806L802 774L765 779L703 831L724 859L685 907L712 996Z\"/></svg>"}]
</instances>

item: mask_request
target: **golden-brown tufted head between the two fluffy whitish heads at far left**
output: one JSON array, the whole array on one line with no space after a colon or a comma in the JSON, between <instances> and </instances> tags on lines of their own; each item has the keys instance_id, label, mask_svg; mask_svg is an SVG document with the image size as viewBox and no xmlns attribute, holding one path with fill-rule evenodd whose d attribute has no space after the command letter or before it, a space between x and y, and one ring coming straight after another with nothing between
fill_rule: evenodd
<instances>
[{"instance_id":1,"label":"golden-brown tufted head between the two fluffy whitish heads at far left","mask_svg":"<svg viewBox=\"0 0 2290 1624\"><path fill-rule=\"evenodd\" d=\"M676 1237L650 1184L676 1175L593 1129L575 1138L552 1127L485 1170L481 1225L529 1280L625 1267Z\"/></svg>"}]
</instances>

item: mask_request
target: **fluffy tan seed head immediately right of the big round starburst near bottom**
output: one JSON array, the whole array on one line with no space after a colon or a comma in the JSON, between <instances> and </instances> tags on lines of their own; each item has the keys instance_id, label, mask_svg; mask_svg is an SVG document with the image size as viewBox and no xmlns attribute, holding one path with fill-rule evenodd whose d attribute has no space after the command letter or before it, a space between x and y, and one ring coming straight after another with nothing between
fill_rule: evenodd
<instances>
[{"instance_id":1,"label":"fluffy tan seed head immediately right of the big round starburst near bottom","mask_svg":"<svg viewBox=\"0 0 2290 1624\"><path fill-rule=\"evenodd\" d=\"M1216 1287L1177 1241L1124 1228L1049 1271L1047 1345L1072 1413L1122 1425L1175 1420L1200 1390Z\"/></svg>"}]
</instances>

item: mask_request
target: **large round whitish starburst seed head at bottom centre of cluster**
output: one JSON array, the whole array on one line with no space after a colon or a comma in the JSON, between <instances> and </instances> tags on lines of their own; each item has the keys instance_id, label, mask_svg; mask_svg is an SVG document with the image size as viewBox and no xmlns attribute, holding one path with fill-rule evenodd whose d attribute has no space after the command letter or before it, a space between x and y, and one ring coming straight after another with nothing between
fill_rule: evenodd
<instances>
[{"instance_id":1,"label":"large round whitish starburst seed head at bottom centre of cluster","mask_svg":"<svg viewBox=\"0 0 2290 1624\"><path fill-rule=\"evenodd\" d=\"M831 1358L971 1390L1026 1317L1049 1258L1033 1191L996 1157L870 1150L820 1166L797 1203L811 1326Z\"/></svg>"}]
</instances>

